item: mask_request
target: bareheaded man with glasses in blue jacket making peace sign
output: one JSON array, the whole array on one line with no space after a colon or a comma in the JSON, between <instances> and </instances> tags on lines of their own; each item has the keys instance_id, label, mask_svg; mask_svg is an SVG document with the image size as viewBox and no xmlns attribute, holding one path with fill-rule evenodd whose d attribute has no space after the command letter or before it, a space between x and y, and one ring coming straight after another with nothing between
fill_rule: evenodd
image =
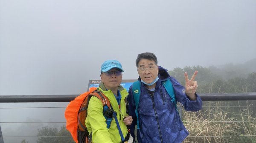
<instances>
[{"instance_id":1,"label":"bareheaded man with glasses in blue jacket making peace sign","mask_svg":"<svg viewBox=\"0 0 256 143\"><path fill-rule=\"evenodd\" d=\"M157 65L157 57L154 53L139 54L136 66L140 76L140 97L137 119L133 95L135 93L131 86L128 95L128 111L133 118L129 127L131 135L134 137L134 128L138 120L139 143L181 143L189 132L183 125L175 103L172 102L163 82L170 79L176 100L183 104L187 111L198 111L202 108L201 98L195 93L198 85L194 79L198 71L195 71L190 80L187 73L184 73L186 85L183 87L175 78L169 76L166 69Z\"/></svg>"}]
</instances>

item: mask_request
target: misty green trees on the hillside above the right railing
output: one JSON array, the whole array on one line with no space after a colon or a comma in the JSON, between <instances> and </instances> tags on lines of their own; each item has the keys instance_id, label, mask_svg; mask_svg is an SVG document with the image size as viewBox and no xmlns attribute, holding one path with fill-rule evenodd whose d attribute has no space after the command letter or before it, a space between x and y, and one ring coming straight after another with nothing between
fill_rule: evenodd
<instances>
[{"instance_id":1,"label":"misty green trees on the hillside above the right railing","mask_svg":"<svg viewBox=\"0 0 256 143\"><path fill-rule=\"evenodd\" d=\"M185 84L184 72L192 77L195 70L198 75L199 93L249 93L256 92L256 58L244 64L225 64L218 67L186 66L169 71L181 84Z\"/></svg>"}]
</instances>

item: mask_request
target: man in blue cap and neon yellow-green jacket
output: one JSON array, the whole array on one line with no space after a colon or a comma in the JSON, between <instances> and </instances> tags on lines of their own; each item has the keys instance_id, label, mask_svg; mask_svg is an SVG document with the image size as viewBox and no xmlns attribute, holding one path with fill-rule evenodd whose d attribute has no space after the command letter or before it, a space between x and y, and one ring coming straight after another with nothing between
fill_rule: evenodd
<instances>
[{"instance_id":1,"label":"man in blue cap and neon yellow-green jacket","mask_svg":"<svg viewBox=\"0 0 256 143\"><path fill-rule=\"evenodd\" d=\"M107 60L101 66L101 84L98 90L108 97L112 109L117 113L116 119L112 118L110 128L107 128L106 119L103 115L102 101L99 98L90 99L85 124L88 132L92 132L92 143L125 143L123 138L128 138L127 125L131 125L132 117L126 114L126 98L128 95L120 84L122 81L122 65L116 60ZM118 125L120 126L120 133ZM126 137L128 136L128 137Z\"/></svg>"}]
</instances>

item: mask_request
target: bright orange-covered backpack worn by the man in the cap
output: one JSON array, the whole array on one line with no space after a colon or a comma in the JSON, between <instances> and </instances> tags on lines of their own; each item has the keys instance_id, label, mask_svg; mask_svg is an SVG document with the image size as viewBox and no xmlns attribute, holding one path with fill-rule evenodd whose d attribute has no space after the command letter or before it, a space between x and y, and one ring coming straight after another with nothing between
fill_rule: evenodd
<instances>
[{"instance_id":1,"label":"bright orange-covered backpack worn by the man in the cap","mask_svg":"<svg viewBox=\"0 0 256 143\"><path fill-rule=\"evenodd\" d=\"M87 117L88 104L92 96L99 98L102 101L102 106L108 106L110 108L108 98L102 92L97 91L96 87L91 87L88 92L70 101L65 110L66 128L76 143L88 143L89 132L85 126L85 119Z\"/></svg>"}]
</instances>

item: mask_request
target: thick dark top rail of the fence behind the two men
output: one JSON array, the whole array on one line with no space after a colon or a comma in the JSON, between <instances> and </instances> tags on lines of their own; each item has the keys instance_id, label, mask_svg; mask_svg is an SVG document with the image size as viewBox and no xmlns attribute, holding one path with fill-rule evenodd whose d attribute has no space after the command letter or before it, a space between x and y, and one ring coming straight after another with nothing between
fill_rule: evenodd
<instances>
[{"instance_id":1,"label":"thick dark top rail of the fence behind the two men","mask_svg":"<svg viewBox=\"0 0 256 143\"><path fill-rule=\"evenodd\" d=\"M70 102L78 95L0 95L0 103ZM256 100L256 93L201 93L202 101Z\"/></svg>"}]
</instances>

